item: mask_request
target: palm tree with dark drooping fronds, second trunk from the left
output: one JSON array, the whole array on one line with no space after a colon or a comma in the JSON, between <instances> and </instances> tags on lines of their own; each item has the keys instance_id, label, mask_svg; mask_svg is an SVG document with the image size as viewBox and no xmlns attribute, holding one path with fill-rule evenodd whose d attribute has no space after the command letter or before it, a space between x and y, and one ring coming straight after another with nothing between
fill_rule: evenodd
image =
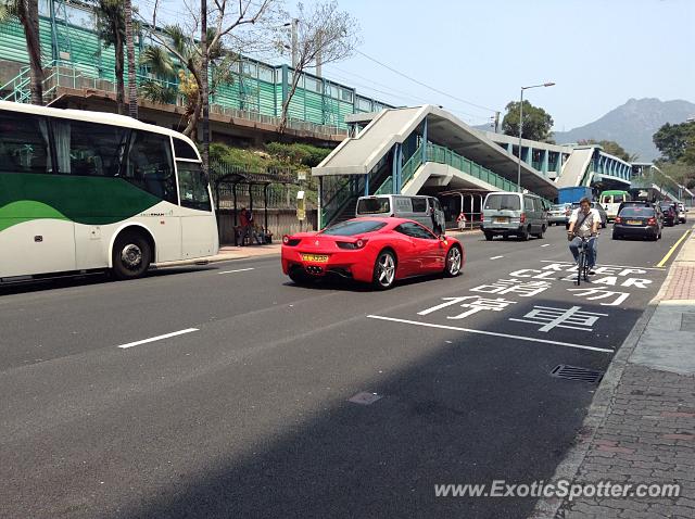
<instances>
[{"instance_id":1,"label":"palm tree with dark drooping fronds, second trunk from the left","mask_svg":"<svg viewBox=\"0 0 695 519\"><path fill-rule=\"evenodd\" d=\"M104 47L113 46L116 66L116 105L119 114L125 113L125 81L124 81L124 46L126 41L125 12L122 0L98 0L97 30L104 41ZM135 68L134 68L135 69Z\"/></svg>"}]
</instances>

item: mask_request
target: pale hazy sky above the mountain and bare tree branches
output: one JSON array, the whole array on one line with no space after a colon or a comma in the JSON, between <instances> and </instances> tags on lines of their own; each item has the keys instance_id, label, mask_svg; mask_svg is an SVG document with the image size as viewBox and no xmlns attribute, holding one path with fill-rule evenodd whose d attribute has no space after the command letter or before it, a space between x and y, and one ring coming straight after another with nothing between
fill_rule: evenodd
<instances>
[{"instance_id":1,"label":"pale hazy sky above the mountain and bare tree branches","mask_svg":"<svg viewBox=\"0 0 695 519\"><path fill-rule=\"evenodd\" d=\"M162 3L168 16L182 10L182 0ZM392 104L441 104L469 124L483 124L493 110L504 114L521 86L555 81L525 96L553 115L556 130L569 130L630 98L695 102L695 0L339 3L359 21L364 54L490 110L419 86L361 54L324 67L326 77ZM294 7L288 1L290 12Z\"/></svg>"}]
</instances>

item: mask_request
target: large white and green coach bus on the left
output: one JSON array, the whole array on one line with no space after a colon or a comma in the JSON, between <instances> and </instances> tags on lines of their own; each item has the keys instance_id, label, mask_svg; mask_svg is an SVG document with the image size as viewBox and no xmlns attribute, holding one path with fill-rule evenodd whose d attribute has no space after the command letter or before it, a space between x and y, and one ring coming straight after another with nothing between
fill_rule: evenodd
<instances>
[{"instance_id":1,"label":"large white and green coach bus on the left","mask_svg":"<svg viewBox=\"0 0 695 519\"><path fill-rule=\"evenodd\" d=\"M217 254L201 164L174 130L0 101L0 282Z\"/></svg>"}]
</instances>

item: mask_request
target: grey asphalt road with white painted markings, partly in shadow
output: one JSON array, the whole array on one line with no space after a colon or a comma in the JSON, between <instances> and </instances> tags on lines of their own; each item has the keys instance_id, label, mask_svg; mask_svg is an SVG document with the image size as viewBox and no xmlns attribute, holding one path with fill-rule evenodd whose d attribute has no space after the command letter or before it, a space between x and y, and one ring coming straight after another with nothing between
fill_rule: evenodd
<instances>
[{"instance_id":1,"label":"grey asphalt road with white painted markings, partly in shadow","mask_svg":"<svg viewBox=\"0 0 695 519\"><path fill-rule=\"evenodd\" d=\"M0 517L526 517L434 485L553 474L596 385L551 371L606 369L684 230L606 229L579 290L557 227L388 292L278 258L0 288Z\"/></svg>"}]
</instances>

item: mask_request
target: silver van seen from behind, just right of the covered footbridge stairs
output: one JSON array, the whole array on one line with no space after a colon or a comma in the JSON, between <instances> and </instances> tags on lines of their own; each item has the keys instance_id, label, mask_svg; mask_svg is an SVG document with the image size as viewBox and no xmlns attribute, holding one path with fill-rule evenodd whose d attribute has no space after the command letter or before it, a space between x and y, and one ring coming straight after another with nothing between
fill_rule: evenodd
<instances>
[{"instance_id":1,"label":"silver van seen from behind, just right of the covered footbridge stairs","mask_svg":"<svg viewBox=\"0 0 695 519\"><path fill-rule=\"evenodd\" d=\"M495 191L485 197L481 226L485 240L511 235L521 240L543 238L547 225L545 204L536 194Z\"/></svg>"}]
</instances>

